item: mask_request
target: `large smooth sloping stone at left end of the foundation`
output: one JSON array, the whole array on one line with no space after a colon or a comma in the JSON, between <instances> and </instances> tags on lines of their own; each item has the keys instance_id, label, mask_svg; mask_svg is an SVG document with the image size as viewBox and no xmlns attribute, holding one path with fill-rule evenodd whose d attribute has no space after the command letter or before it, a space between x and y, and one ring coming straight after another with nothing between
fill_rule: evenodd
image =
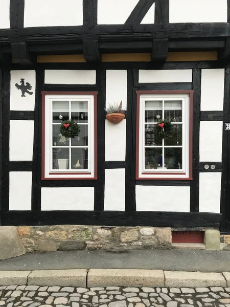
<instances>
[{"instance_id":1,"label":"large smooth sloping stone at left end of the foundation","mask_svg":"<svg viewBox=\"0 0 230 307\"><path fill-rule=\"evenodd\" d=\"M26 253L17 228L0 226L0 260L17 257Z\"/></svg>"}]
</instances>

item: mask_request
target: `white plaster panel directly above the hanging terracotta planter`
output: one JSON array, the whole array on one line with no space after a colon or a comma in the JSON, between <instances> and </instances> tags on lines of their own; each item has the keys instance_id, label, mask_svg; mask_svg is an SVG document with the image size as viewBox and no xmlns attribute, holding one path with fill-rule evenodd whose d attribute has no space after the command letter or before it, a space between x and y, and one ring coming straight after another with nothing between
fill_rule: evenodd
<instances>
[{"instance_id":1,"label":"white plaster panel directly above the hanging terracotta planter","mask_svg":"<svg viewBox=\"0 0 230 307\"><path fill-rule=\"evenodd\" d=\"M127 106L127 71L107 70L106 71L106 107L114 102L120 104L122 108Z\"/></svg>"}]
</instances>

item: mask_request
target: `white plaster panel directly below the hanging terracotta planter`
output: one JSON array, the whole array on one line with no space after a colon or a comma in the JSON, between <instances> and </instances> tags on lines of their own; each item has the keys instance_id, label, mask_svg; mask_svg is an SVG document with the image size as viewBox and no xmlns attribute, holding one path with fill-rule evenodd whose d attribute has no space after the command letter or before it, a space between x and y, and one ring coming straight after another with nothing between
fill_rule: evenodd
<instances>
[{"instance_id":1,"label":"white plaster panel directly below the hanging terracotta planter","mask_svg":"<svg viewBox=\"0 0 230 307\"><path fill-rule=\"evenodd\" d=\"M125 161L126 119L114 125L105 121L105 161Z\"/></svg>"}]
</instances>

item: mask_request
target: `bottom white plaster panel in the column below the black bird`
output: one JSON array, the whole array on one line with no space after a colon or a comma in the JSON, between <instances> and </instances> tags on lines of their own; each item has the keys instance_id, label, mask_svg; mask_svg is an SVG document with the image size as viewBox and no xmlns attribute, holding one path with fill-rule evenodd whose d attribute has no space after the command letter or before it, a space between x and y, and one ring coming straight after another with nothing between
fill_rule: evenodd
<instances>
[{"instance_id":1,"label":"bottom white plaster panel in the column below the black bird","mask_svg":"<svg viewBox=\"0 0 230 307\"><path fill-rule=\"evenodd\" d=\"M32 171L10 171L9 210L31 210Z\"/></svg>"}]
</instances>

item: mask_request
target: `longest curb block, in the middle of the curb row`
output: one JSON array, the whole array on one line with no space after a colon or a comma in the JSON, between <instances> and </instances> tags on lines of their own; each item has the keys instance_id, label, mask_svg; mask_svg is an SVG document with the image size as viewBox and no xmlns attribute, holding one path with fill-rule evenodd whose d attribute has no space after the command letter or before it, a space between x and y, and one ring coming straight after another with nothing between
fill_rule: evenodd
<instances>
[{"instance_id":1,"label":"longest curb block, in the middle of the curb row","mask_svg":"<svg viewBox=\"0 0 230 307\"><path fill-rule=\"evenodd\" d=\"M165 287L165 276L162 270L89 270L87 287L107 286Z\"/></svg>"}]
</instances>

